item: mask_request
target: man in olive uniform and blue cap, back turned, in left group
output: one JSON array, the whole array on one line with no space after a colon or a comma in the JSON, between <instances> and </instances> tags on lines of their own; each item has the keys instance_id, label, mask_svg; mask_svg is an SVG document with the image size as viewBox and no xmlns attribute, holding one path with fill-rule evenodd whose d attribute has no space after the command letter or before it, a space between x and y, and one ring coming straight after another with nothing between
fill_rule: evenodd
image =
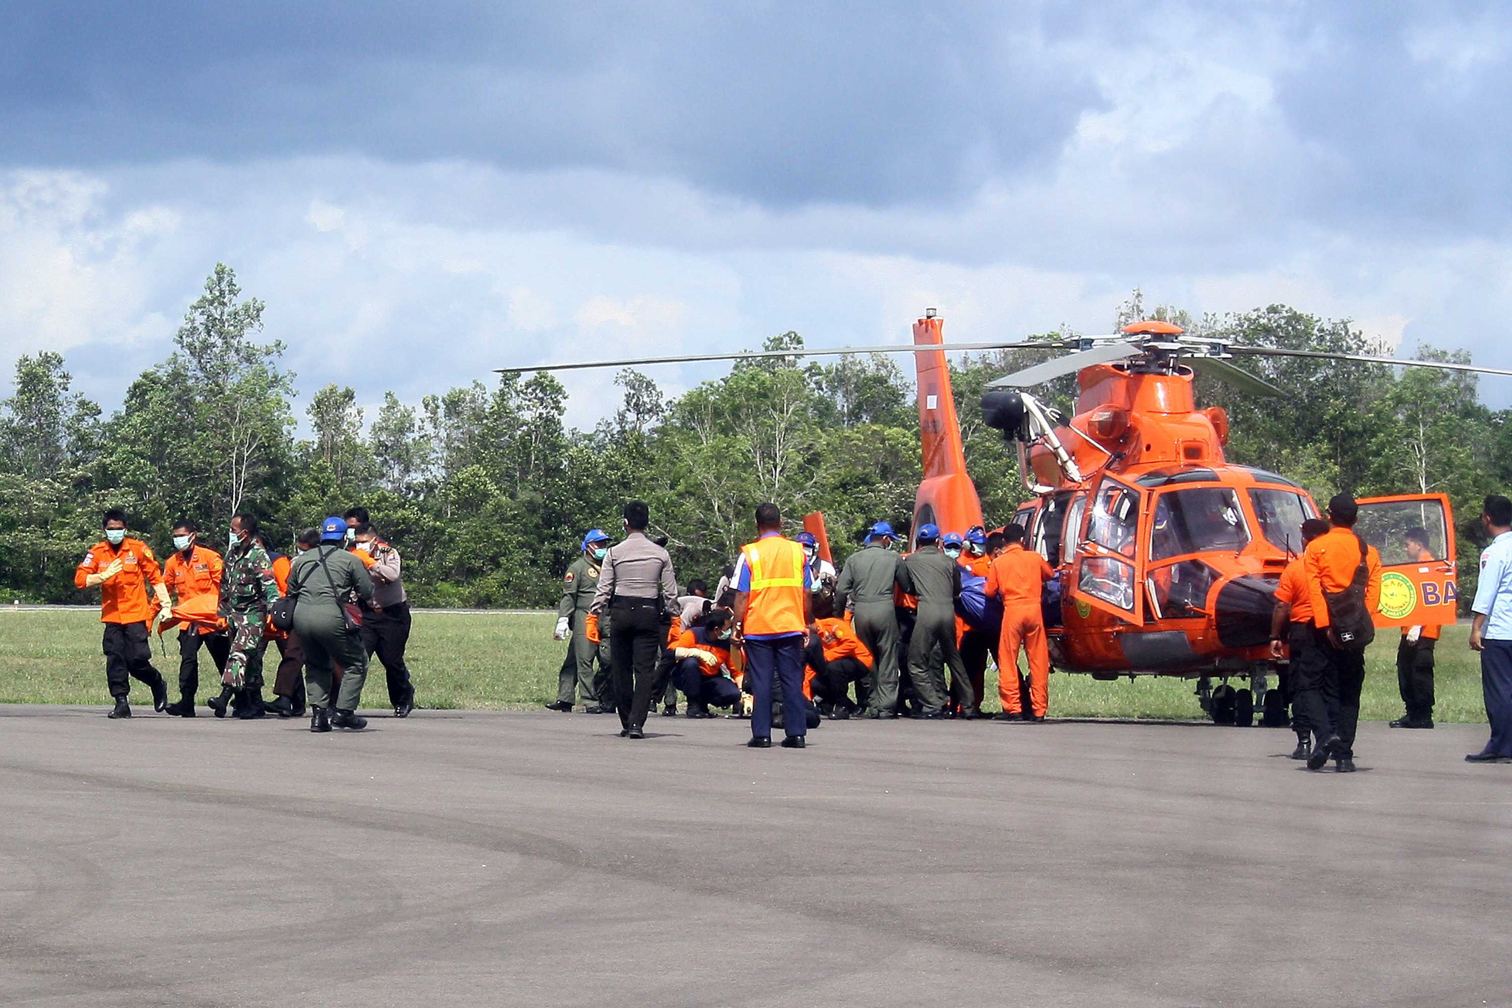
<instances>
[{"instance_id":1,"label":"man in olive uniform and blue cap, back turned, in left group","mask_svg":"<svg viewBox=\"0 0 1512 1008\"><path fill-rule=\"evenodd\" d=\"M311 731L367 727L367 719L357 716L367 682L367 648L361 633L346 627L342 600L355 592L363 601L372 601L373 582L363 562L342 549L345 540L346 521L327 518L321 523L321 546L301 553L289 568L289 594L296 598L293 632L304 645ZM333 660L342 666L342 692L334 698Z\"/></svg>"}]
</instances>

